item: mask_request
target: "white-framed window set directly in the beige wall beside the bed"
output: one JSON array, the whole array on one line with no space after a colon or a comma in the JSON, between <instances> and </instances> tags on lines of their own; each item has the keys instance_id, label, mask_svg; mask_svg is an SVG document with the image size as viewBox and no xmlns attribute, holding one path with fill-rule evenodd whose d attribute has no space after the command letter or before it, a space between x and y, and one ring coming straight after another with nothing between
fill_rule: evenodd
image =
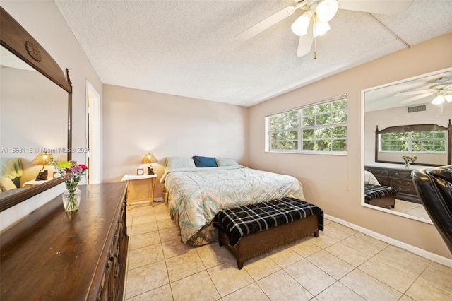
<instances>
[{"instance_id":1,"label":"white-framed window set directly in the beige wall beside the bed","mask_svg":"<svg viewBox=\"0 0 452 301\"><path fill-rule=\"evenodd\" d=\"M266 117L266 151L344 153L347 98Z\"/></svg>"}]
</instances>

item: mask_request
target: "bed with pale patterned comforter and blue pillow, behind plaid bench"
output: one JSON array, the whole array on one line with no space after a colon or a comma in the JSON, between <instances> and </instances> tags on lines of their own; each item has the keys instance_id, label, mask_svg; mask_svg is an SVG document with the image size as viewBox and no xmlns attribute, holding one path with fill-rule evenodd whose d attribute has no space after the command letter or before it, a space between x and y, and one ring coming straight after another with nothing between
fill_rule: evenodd
<instances>
[{"instance_id":1,"label":"bed with pale patterned comforter and blue pillow, behind plaid bench","mask_svg":"<svg viewBox=\"0 0 452 301\"><path fill-rule=\"evenodd\" d=\"M304 200L295 177L254 170L230 158L167 158L160 183L182 242L193 246L218 240L212 221L223 209L284 196Z\"/></svg>"}]
</instances>

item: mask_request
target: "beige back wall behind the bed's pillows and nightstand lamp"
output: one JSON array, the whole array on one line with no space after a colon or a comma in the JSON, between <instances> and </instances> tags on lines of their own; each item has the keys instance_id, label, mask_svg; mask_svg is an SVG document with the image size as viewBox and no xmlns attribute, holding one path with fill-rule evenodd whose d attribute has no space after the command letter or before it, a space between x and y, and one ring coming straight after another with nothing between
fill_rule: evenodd
<instances>
[{"instance_id":1,"label":"beige back wall behind the bed's pillows and nightstand lamp","mask_svg":"<svg viewBox=\"0 0 452 301\"><path fill-rule=\"evenodd\" d=\"M248 163L246 107L104 85L103 112L104 182L136 173L148 152L158 160L153 167L159 178L170 156L227 157ZM162 196L160 184L155 194Z\"/></svg>"}]
</instances>

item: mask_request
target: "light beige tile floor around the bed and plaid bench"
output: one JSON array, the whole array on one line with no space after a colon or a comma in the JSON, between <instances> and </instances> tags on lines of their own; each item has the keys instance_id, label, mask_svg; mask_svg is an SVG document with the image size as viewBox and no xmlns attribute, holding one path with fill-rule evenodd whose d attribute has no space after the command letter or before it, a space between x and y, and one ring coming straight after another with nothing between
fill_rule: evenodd
<instances>
[{"instance_id":1,"label":"light beige tile floor around the bed and plaid bench","mask_svg":"<svg viewBox=\"0 0 452 301\"><path fill-rule=\"evenodd\" d=\"M165 203L127 213L124 300L452 300L452 268L331 220L238 270L218 243L183 244Z\"/></svg>"}]
</instances>

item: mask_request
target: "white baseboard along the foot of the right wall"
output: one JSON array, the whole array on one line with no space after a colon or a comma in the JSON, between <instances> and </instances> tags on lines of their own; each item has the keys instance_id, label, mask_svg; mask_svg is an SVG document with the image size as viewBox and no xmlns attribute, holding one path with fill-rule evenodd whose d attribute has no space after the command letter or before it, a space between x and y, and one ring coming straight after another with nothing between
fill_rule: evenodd
<instances>
[{"instance_id":1,"label":"white baseboard along the foot of the right wall","mask_svg":"<svg viewBox=\"0 0 452 301\"><path fill-rule=\"evenodd\" d=\"M362 228L359 225L348 223L345 220L341 220L340 218L335 218L334 216L329 216L328 214L325 214L325 218L328 218L328 220L333 220L333 222L338 223L340 225L345 225L345 227L352 228L353 230L357 230L358 232L362 232L366 235L369 235L370 237L374 237L377 240L387 242L388 244L392 244L393 246L400 247L401 249L406 249L407 251L410 251L416 255L422 256L426 259L435 261L439 264L452 268L452 259L448 259L446 257L439 256L432 252L428 252L424 249L420 249L418 247L412 246L411 244L406 244L405 242L400 242L399 240L394 240L391 237L387 237L385 235L381 235L380 233L371 231L369 229Z\"/></svg>"}]
</instances>

